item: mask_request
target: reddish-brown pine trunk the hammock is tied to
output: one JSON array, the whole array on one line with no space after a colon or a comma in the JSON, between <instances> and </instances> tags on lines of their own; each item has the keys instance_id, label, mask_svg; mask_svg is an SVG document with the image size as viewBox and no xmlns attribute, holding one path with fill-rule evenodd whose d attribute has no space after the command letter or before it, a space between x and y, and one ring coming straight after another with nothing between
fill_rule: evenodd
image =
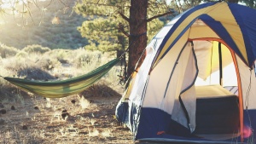
<instances>
[{"instance_id":1,"label":"reddish-brown pine trunk the hammock is tied to","mask_svg":"<svg viewBox=\"0 0 256 144\"><path fill-rule=\"evenodd\" d=\"M147 46L147 8L148 0L131 0L128 76L134 71L137 60L143 55L143 49ZM144 57L145 55L138 66L142 64Z\"/></svg>"}]
</instances>

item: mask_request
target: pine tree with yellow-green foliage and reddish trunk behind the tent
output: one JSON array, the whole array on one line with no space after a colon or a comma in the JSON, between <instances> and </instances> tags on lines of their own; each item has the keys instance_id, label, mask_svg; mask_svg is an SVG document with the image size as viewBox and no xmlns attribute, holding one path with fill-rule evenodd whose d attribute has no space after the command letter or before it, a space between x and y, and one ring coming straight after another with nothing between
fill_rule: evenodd
<instances>
[{"instance_id":1,"label":"pine tree with yellow-green foliage and reddish trunk behind the tent","mask_svg":"<svg viewBox=\"0 0 256 144\"><path fill-rule=\"evenodd\" d=\"M103 43L108 49L129 47L128 76L142 55L138 62L141 65L148 37L163 26L157 18L173 13L162 0L84 0L77 3L75 11L92 17L93 21L84 21L79 27L82 36L90 38L91 43Z\"/></svg>"}]
</instances>

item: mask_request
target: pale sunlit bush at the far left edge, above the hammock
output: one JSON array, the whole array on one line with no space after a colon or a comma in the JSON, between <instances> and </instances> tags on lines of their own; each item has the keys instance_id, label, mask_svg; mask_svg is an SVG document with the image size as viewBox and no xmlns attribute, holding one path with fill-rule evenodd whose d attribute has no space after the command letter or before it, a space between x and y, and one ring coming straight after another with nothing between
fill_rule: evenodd
<instances>
[{"instance_id":1,"label":"pale sunlit bush at the far left edge, above the hammock","mask_svg":"<svg viewBox=\"0 0 256 144\"><path fill-rule=\"evenodd\" d=\"M7 58L10 56L15 56L20 50L15 47L9 47L3 43L0 43L0 56L2 58Z\"/></svg>"}]
</instances>

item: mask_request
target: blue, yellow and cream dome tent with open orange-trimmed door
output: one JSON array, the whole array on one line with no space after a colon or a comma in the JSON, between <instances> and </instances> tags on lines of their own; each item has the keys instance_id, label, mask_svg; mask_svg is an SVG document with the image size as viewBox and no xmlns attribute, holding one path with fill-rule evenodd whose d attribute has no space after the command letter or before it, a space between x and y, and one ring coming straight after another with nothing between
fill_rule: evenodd
<instances>
[{"instance_id":1,"label":"blue, yellow and cream dome tent with open orange-trimmed door","mask_svg":"<svg viewBox=\"0 0 256 144\"><path fill-rule=\"evenodd\" d=\"M255 143L255 17L203 3L154 36L116 107L135 141Z\"/></svg>"}]
</instances>

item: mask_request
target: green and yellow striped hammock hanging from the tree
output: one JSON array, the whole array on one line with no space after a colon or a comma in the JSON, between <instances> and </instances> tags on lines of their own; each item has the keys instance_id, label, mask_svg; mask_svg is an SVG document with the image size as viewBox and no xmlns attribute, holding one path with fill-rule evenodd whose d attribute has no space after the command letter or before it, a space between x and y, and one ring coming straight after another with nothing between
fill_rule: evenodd
<instances>
[{"instance_id":1,"label":"green and yellow striped hammock hanging from the tree","mask_svg":"<svg viewBox=\"0 0 256 144\"><path fill-rule=\"evenodd\" d=\"M84 91L84 89L87 89L102 78L118 62L119 59L114 59L84 75L61 81L41 82L9 77L4 79L8 80L11 84L15 84L20 89L32 92L33 94L47 98L61 98Z\"/></svg>"}]
</instances>

